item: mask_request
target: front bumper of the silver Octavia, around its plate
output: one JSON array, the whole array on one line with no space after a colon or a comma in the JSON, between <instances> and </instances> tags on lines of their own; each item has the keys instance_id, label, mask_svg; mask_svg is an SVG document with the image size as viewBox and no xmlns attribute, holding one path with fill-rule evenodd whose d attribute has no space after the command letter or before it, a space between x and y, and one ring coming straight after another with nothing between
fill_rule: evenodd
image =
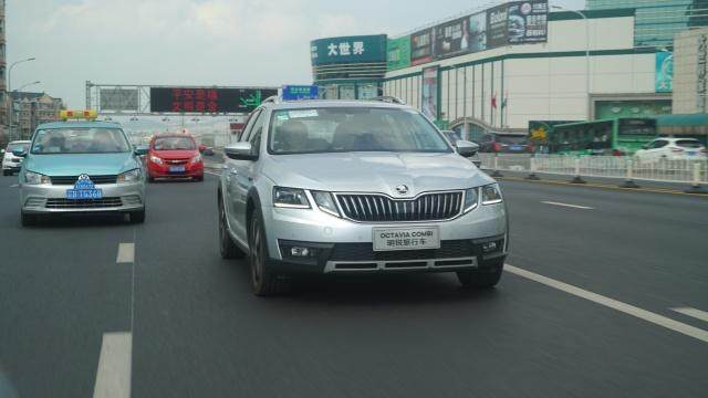
<instances>
[{"instance_id":1,"label":"front bumper of the silver Octavia, around its plate","mask_svg":"<svg viewBox=\"0 0 708 398\"><path fill-rule=\"evenodd\" d=\"M449 272L477 270L503 261L508 252L503 203L480 206L449 221L410 222L406 227L437 227L440 248L373 250L373 228L402 223L364 223L339 219L317 209L263 209L271 264L280 273ZM489 251L489 242L496 250ZM309 248L312 256L290 255L291 248Z\"/></svg>"}]
</instances>

